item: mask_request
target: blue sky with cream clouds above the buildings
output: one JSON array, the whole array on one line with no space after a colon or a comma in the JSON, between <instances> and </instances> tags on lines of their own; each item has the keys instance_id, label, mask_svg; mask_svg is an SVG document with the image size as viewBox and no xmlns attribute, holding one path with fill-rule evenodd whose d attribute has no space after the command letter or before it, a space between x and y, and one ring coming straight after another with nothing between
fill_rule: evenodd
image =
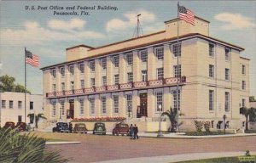
<instances>
[{"instance_id":1,"label":"blue sky with cream clouds above the buildings","mask_svg":"<svg viewBox=\"0 0 256 163\"><path fill-rule=\"evenodd\" d=\"M211 37L245 48L241 56L251 59L250 94L256 96L256 1L179 1L179 4L211 22ZM60 15L60 12L78 15ZM64 62L66 48L80 44L98 47L129 39L137 14L142 14L144 35L162 31L164 21L177 18L177 1L2 0L0 75L14 76L16 83L25 85L25 48L40 57L39 68L42 68ZM26 87L33 94L43 93L43 72L39 68L26 65Z\"/></svg>"}]
</instances>

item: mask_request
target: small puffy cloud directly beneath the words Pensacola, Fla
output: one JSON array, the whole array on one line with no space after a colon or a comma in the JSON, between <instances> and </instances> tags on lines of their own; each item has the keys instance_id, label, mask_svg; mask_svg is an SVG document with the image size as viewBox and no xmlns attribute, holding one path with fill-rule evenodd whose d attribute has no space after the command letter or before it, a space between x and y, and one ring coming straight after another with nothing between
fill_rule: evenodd
<instances>
[{"instance_id":1,"label":"small puffy cloud directly beneath the words Pensacola, Fla","mask_svg":"<svg viewBox=\"0 0 256 163\"><path fill-rule=\"evenodd\" d=\"M49 20L48 26L51 29L55 30L73 30L73 29L82 29L86 22L84 20L80 20L78 18L74 18L69 21L64 20Z\"/></svg>"}]
</instances>

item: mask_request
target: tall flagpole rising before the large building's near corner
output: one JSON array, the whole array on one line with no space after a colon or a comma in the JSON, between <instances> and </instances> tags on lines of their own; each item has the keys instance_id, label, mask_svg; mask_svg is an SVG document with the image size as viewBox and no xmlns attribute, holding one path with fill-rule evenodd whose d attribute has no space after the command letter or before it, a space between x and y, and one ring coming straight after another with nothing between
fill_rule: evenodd
<instances>
[{"instance_id":1,"label":"tall flagpole rising before the large building's near corner","mask_svg":"<svg viewBox=\"0 0 256 163\"><path fill-rule=\"evenodd\" d=\"M179 2L177 2L177 87L176 87L176 95L177 95L177 131L179 132L179 126L178 126L178 115L179 115L179 101L178 101L178 82L180 80L180 76L179 76L179 66L178 66L178 58L179 58ZM179 79L179 80L178 80Z\"/></svg>"}]
</instances>

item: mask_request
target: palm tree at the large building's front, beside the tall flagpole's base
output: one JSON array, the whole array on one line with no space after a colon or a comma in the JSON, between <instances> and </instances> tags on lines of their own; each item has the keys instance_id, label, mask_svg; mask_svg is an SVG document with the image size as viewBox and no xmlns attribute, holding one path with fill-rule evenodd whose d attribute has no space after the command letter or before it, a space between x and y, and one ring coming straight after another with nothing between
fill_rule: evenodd
<instances>
[{"instance_id":1,"label":"palm tree at the large building's front, beside the tall flagpole's base","mask_svg":"<svg viewBox=\"0 0 256 163\"><path fill-rule=\"evenodd\" d=\"M164 116L164 115L167 115L169 120L171 121L169 132L176 132L177 126L181 126L183 124L183 122L180 122L179 124L177 124L178 115L183 115L182 113L178 114L177 109L173 110L171 107L170 110L163 112L161 116Z\"/></svg>"}]
</instances>

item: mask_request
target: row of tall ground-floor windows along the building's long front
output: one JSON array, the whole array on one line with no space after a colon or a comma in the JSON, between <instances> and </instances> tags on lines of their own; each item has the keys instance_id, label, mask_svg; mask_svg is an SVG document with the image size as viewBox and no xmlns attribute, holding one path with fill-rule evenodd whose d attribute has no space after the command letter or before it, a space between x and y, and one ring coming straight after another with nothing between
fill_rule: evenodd
<instances>
[{"instance_id":1,"label":"row of tall ground-floor windows along the building's long front","mask_svg":"<svg viewBox=\"0 0 256 163\"><path fill-rule=\"evenodd\" d=\"M180 92L178 91L173 91L173 108L174 109L179 109L180 108ZM163 111L163 93L158 92L155 93L155 98L156 98L156 112L162 112ZM119 96L118 95L113 95L113 114L119 114ZM132 94L126 94L125 95L125 100L126 100L126 113L129 114L132 112ZM90 115L95 115L96 113L96 108L95 108L95 98L89 98L90 102ZM52 104L52 116L56 115L56 102L55 100L51 101ZM60 102L60 113L61 115L64 115L64 100L61 100ZM107 114L107 98L105 96L101 97L101 114L106 115ZM84 115L84 99L79 98L79 115Z\"/></svg>"}]
</instances>

